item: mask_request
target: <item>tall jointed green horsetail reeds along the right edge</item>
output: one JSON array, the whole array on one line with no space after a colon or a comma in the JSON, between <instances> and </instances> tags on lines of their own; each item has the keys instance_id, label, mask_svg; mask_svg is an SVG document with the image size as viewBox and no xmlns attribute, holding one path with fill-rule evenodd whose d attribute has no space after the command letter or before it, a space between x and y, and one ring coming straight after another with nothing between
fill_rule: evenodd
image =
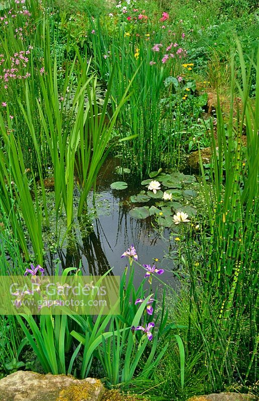
<instances>
[{"instance_id":1,"label":"tall jointed green horsetail reeds along the right edge","mask_svg":"<svg viewBox=\"0 0 259 401\"><path fill-rule=\"evenodd\" d=\"M259 51L256 64L247 71L238 42L237 49L242 82L234 80L232 62L227 128L218 101L217 143L211 135L212 187L205 180L201 164L209 215L209 227L200 237L201 267L194 267L192 242L186 248L190 312L195 309L197 313L196 329L214 390L233 385L235 377L248 385L256 381L257 374ZM251 68L256 69L254 101L248 97ZM236 88L242 106L234 116ZM246 147L242 146L243 126Z\"/></svg>"}]
</instances>

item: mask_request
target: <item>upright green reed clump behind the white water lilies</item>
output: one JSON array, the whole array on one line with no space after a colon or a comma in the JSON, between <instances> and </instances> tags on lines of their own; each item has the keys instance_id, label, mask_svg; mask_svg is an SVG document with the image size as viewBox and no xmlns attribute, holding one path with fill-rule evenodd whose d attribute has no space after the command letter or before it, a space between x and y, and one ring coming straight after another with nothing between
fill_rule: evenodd
<instances>
[{"instance_id":1,"label":"upright green reed clump behind the white water lilies","mask_svg":"<svg viewBox=\"0 0 259 401\"><path fill-rule=\"evenodd\" d=\"M93 28L96 35L89 32L93 62L101 78L106 81L112 66L117 66L111 89L113 107L118 104L127 83L138 69L132 85L132 96L119 112L118 125L124 143L123 157L143 176L152 168L161 166L161 154L167 155L164 160L167 164L172 161L172 146L168 140L170 124L165 121L167 117L170 120L170 113L162 107L161 99L166 96L165 78L177 75L181 60L174 58L162 64L159 59L161 55L152 51L153 41L162 41L161 33L151 43L144 32L142 36L146 40L138 40L135 36L127 36L121 27L110 39L107 27L98 20L96 24L91 22L90 30ZM146 30L153 29L154 26L150 25ZM150 62L155 64L150 65ZM128 140L124 142L124 139Z\"/></svg>"}]
</instances>

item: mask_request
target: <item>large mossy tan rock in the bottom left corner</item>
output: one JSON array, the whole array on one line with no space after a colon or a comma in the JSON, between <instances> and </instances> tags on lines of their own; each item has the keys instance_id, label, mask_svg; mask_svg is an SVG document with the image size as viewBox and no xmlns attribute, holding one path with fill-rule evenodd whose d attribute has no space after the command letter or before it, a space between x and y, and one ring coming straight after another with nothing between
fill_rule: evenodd
<instances>
[{"instance_id":1,"label":"large mossy tan rock in the bottom left corner","mask_svg":"<svg viewBox=\"0 0 259 401\"><path fill-rule=\"evenodd\" d=\"M89 377L19 370L0 380L1 401L100 401L103 393L100 380Z\"/></svg>"}]
</instances>

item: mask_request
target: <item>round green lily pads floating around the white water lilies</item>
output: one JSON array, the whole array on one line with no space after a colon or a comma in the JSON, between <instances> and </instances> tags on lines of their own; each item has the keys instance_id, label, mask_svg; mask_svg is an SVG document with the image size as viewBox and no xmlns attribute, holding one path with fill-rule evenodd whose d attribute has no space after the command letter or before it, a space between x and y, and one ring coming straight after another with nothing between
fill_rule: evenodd
<instances>
[{"instance_id":1,"label":"round green lily pads floating around the white water lilies","mask_svg":"<svg viewBox=\"0 0 259 401\"><path fill-rule=\"evenodd\" d=\"M142 190L137 195L132 195L130 200L133 204L145 204L151 200L155 200L155 205L152 206L136 206L130 210L129 214L135 219L146 219L149 216L156 216L158 223L162 227L175 227L173 216L177 212L184 212L189 217L194 217L197 214L196 208L190 205L183 205L184 200L191 200L198 195L194 189L183 189L183 185L191 184L196 181L195 176L185 175L181 172L163 173L162 169L153 171L149 174L150 178L142 181L142 185L146 190ZM160 184L160 188L156 191L150 190L150 183L154 180ZM117 181L111 184L113 189L126 188L126 182ZM170 194L169 199L166 194Z\"/></svg>"}]
</instances>

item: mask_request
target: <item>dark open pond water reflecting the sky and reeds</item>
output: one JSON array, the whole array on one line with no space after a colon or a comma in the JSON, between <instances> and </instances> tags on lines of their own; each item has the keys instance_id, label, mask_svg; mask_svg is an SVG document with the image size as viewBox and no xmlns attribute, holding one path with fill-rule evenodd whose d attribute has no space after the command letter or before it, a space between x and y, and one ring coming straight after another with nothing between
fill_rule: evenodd
<instances>
[{"instance_id":1,"label":"dark open pond water reflecting the sky and reeds","mask_svg":"<svg viewBox=\"0 0 259 401\"><path fill-rule=\"evenodd\" d=\"M82 263L83 274L102 275L110 268L112 274L121 275L125 265L128 264L126 258L121 259L122 253L134 244L137 249L140 264L154 264L157 258L158 268L165 269L165 273L159 278L172 287L176 281L173 274L173 261L167 259L169 243L169 231L165 229L162 239L156 232L152 224L153 217L145 220L136 220L128 212L133 205L129 198L143 189L139 181L129 174L124 178L115 172L119 160L109 158L102 166L96 183L96 218L92 220L93 230L85 237L78 236L73 246L59 249L57 254L48 255L47 267L52 270L54 260L59 258L62 268L78 267ZM117 180L125 180L128 187L124 190L112 190L110 184ZM93 193L90 193L89 210L92 207ZM136 285L140 284L145 270L136 266ZM159 283L159 282L157 282Z\"/></svg>"}]
</instances>

